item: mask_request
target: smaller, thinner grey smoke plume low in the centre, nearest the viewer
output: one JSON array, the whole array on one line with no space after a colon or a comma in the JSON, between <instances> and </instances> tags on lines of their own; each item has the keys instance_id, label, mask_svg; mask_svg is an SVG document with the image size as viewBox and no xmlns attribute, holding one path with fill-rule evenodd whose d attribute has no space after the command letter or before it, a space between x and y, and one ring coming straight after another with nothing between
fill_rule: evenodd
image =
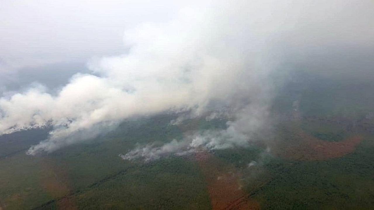
<instances>
[{"instance_id":1,"label":"smaller, thinner grey smoke plume low in the centre, nearest the viewer","mask_svg":"<svg viewBox=\"0 0 374 210\"><path fill-rule=\"evenodd\" d=\"M201 149L216 150L233 147L248 147L253 140L258 140L255 135L262 133L268 122L268 107L257 107L251 103L236 112L236 121L228 121L227 129L196 131L193 135L177 141L172 140L162 146L153 143L129 151L119 156L123 160L142 159L144 161L157 160L167 155L188 155ZM269 126L269 125L267 125Z\"/></svg>"}]
</instances>

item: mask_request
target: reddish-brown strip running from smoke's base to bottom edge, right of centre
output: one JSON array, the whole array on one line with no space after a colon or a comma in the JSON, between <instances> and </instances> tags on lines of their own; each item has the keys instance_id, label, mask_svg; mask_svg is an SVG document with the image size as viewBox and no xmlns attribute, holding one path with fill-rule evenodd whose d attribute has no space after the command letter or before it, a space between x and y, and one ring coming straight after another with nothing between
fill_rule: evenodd
<instances>
[{"instance_id":1,"label":"reddish-brown strip running from smoke's base to bottom edge, right of centre","mask_svg":"<svg viewBox=\"0 0 374 210\"><path fill-rule=\"evenodd\" d=\"M214 210L260 209L257 201L242 190L242 174L235 167L222 163L208 152L196 154L202 173L208 183L208 192Z\"/></svg>"}]
</instances>

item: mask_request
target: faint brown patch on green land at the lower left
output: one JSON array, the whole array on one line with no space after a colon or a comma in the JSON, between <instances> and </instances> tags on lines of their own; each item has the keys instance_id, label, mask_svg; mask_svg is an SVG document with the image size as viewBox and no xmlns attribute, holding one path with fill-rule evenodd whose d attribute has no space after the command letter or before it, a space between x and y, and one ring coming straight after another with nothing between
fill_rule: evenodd
<instances>
[{"instance_id":1,"label":"faint brown patch on green land at the lower left","mask_svg":"<svg viewBox=\"0 0 374 210\"><path fill-rule=\"evenodd\" d=\"M77 209L73 198L65 197L70 194L71 187L64 168L54 160L45 158L43 160L44 176L40 183L45 191L58 200L56 203L57 209Z\"/></svg>"}]
</instances>

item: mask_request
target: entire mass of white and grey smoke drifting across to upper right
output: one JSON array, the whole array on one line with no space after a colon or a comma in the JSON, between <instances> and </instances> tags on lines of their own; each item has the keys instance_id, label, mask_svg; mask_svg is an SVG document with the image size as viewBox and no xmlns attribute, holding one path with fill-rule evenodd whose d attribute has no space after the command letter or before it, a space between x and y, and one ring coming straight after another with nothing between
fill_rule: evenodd
<instances>
[{"instance_id":1,"label":"entire mass of white and grey smoke drifting across to upper right","mask_svg":"<svg viewBox=\"0 0 374 210\"><path fill-rule=\"evenodd\" d=\"M50 137L28 150L37 154L92 138L129 117L181 109L200 115L218 104L230 107L236 119L226 130L182 146L138 148L128 158L188 146L246 146L269 126L273 73L284 62L315 62L346 46L372 49L372 10L371 1L337 0L214 2L182 9L172 21L126 31L128 53L92 60L93 74L74 75L56 95L36 86L1 98L0 135L52 124Z\"/></svg>"}]
</instances>

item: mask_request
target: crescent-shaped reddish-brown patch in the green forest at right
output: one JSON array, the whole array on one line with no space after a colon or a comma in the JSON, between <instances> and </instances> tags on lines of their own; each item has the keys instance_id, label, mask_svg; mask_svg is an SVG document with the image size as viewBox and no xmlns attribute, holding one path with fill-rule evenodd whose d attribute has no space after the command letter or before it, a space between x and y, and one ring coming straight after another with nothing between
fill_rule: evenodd
<instances>
[{"instance_id":1,"label":"crescent-shaped reddish-brown patch in the green forest at right","mask_svg":"<svg viewBox=\"0 0 374 210\"><path fill-rule=\"evenodd\" d=\"M356 146L362 141L362 136L353 135L339 142L328 142L311 136L301 129L292 142L278 142L276 155L290 160L328 160L350 154L355 151Z\"/></svg>"}]
</instances>

